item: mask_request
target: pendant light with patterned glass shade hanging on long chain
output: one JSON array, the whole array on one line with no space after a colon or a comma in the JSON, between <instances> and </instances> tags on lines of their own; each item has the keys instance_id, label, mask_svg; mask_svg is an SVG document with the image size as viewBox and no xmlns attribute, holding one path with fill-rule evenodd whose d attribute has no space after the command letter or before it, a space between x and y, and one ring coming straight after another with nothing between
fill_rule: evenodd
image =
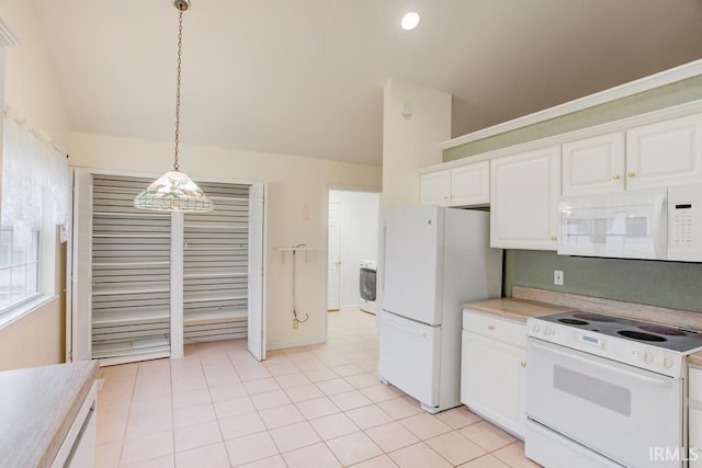
<instances>
[{"instance_id":1,"label":"pendant light with patterned glass shade hanging on long chain","mask_svg":"<svg viewBox=\"0 0 702 468\"><path fill-rule=\"evenodd\" d=\"M173 170L168 171L134 198L134 206L155 212L212 212L214 203L184 172L180 171L178 144L180 137L180 82L183 54L183 13L190 10L190 0L173 0L178 10L178 80L176 87L176 158Z\"/></svg>"}]
</instances>

